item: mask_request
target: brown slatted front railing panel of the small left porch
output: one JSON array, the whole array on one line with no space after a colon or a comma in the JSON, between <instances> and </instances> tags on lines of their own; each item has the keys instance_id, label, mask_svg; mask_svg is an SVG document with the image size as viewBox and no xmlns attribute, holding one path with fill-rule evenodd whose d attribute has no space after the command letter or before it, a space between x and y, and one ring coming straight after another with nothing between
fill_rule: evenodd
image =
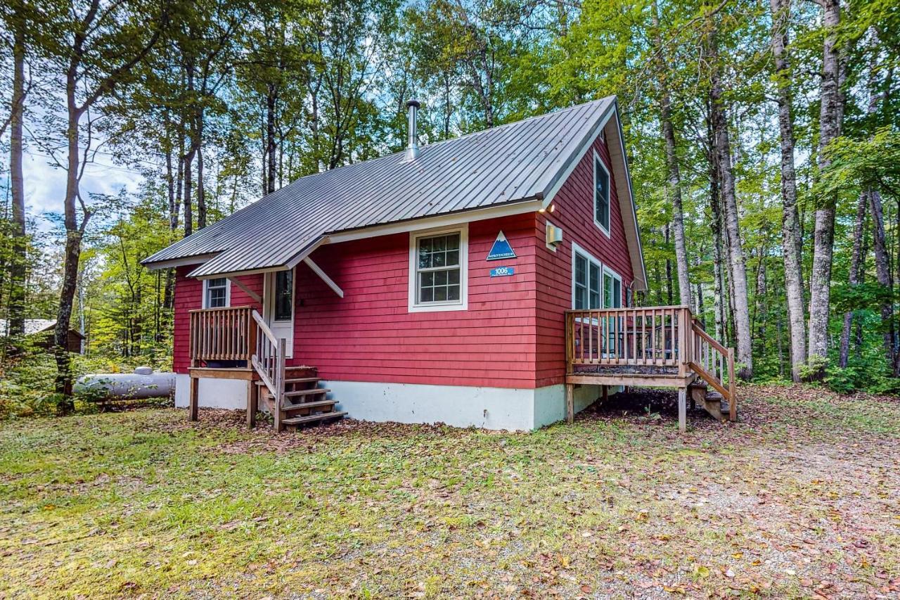
<instances>
[{"instance_id":1,"label":"brown slatted front railing panel of the small left porch","mask_svg":"<svg viewBox=\"0 0 900 600\"><path fill-rule=\"evenodd\" d=\"M257 326L251 306L204 308L191 311L191 364L240 361L250 366Z\"/></svg>"}]
</instances>

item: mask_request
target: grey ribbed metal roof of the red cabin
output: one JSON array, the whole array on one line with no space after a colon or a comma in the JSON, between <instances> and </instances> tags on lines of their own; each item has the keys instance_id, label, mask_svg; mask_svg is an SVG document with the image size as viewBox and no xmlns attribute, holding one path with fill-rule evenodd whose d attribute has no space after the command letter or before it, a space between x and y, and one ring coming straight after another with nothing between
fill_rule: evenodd
<instances>
[{"instance_id":1,"label":"grey ribbed metal roof of the red cabin","mask_svg":"<svg viewBox=\"0 0 900 600\"><path fill-rule=\"evenodd\" d=\"M329 233L543 198L615 96L301 177L144 259L213 258L210 277L284 267Z\"/></svg>"}]
</instances>

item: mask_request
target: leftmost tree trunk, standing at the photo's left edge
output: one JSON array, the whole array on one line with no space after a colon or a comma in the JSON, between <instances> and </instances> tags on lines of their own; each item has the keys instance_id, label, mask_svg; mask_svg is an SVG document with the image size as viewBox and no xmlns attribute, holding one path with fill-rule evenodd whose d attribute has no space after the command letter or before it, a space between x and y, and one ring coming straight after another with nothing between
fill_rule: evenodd
<instances>
[{"instance_id":1,"label":"leftmost tree trunk, standing at the photo's left edge","mask_svg":"<svg viewBox=\"0 0 900 600\"><path fill-rule=\"evenodd\" d=\"M15 3L14 3L15 4ZM22 174L23 115L25 112L25 23L13 15L13 97L10 105L9 178L13 195L13 256L10 264L8 335L25 333L25 271L28 243L25 237L25 186Z\"/></svg>"}]
</instances>

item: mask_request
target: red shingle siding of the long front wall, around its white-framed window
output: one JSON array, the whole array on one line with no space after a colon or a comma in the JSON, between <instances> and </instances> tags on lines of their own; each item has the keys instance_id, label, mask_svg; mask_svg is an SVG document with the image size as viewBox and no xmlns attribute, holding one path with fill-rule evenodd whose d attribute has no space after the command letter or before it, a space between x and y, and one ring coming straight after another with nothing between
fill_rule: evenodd
<instances>
[{"instance_id":1,"label":"red shingle siding of the long front wall, around its white-framed window","mask_svg":"<svg viewBox=\"0 0 900 600\"><path fill-rule=\"evenodd\" d=\"M410 234L350 241L313 259L344 290L298 271L294 359L320 377L443 386L534 387L534 214L469 224L469 308L410 313ZM487 261L503 231L517 258ZM491 268L515 268L491 277Z\"/></svg>"}]
</instances>

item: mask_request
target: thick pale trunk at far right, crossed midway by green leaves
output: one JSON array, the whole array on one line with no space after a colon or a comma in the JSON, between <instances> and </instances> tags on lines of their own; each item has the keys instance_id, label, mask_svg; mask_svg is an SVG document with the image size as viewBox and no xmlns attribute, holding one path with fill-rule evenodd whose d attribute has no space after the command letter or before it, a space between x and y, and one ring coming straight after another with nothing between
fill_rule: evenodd
<instances>
[{"instance_id":1,"label":"thick pale trunk at far right, crossed midway by green leaves","mask_svg":"<svg viewBox=\"0 0 900 600\"><path fill-rule=\"evenodd\" d=\"M826 31L822 61L821 110L819 112L819 170L831 167L824 151L841 135L841 58L836 47L836 29L841 23L840 0L822 0L823 24ZM834 250L835 195L820 200L815 209L813 233L813 269L809 280L809 359L819 359L814 377L824 375L828 357L828 316L831 301L832 259Z\"/></svg>"}]
</instances>

